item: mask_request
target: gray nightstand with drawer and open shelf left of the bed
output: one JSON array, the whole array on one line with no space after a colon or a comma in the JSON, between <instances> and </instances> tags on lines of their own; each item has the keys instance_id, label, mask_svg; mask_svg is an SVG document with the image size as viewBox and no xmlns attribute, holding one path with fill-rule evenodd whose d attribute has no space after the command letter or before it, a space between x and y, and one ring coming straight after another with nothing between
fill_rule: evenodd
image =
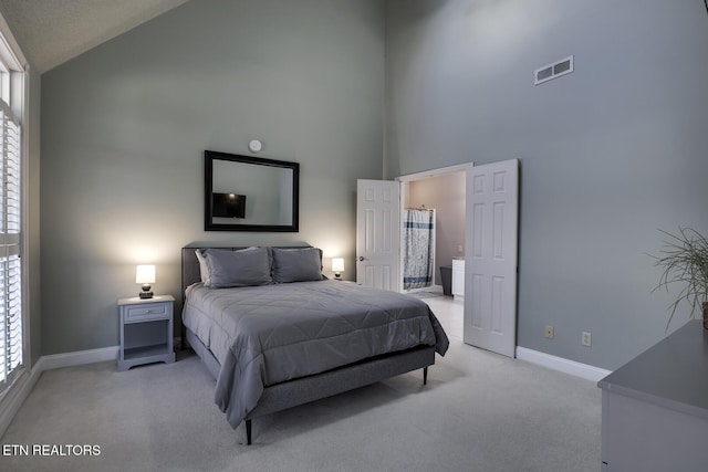
<instances>
[{"instance_id":1,"label":"gray nightstand with drawer and open shelf left of the bed","mask_svg":"<svg viewBox=\"0 0 708 472\"><path fill-rule=\"evenodd\" d=\"M149 363L174 363L171 295L118 300L121 352L118 370Z\"/></svg>"}]
</instances>

